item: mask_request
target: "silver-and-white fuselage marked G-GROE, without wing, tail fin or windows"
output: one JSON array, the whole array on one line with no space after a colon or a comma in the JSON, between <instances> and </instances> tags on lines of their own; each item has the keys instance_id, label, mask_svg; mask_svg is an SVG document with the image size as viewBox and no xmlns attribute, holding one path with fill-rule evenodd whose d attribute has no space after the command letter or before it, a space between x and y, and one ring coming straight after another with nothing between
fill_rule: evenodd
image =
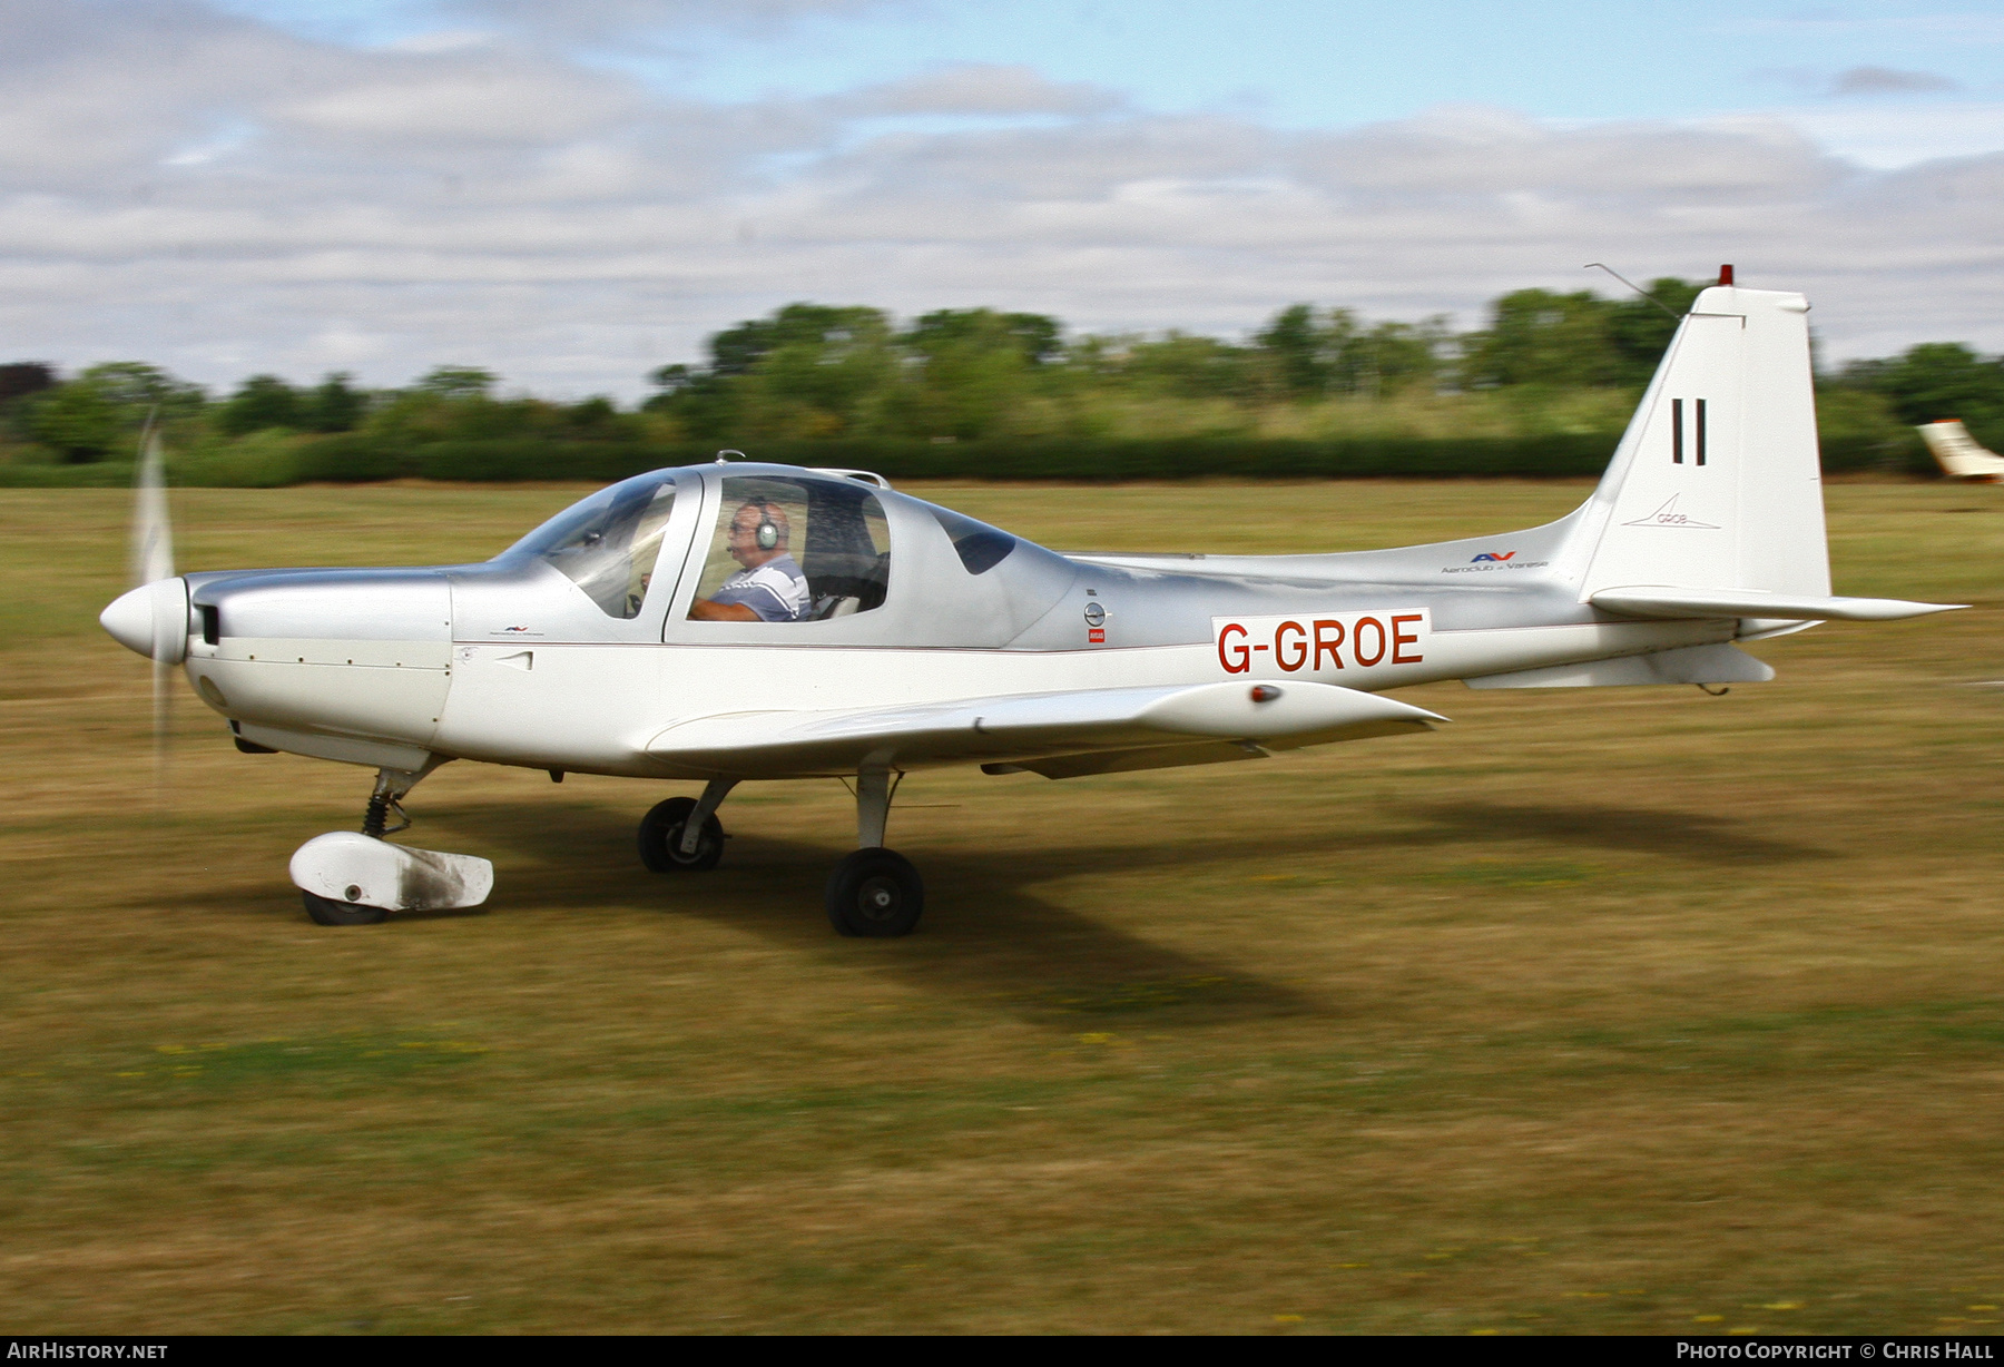
<instances>
[{"instance_id":1,"label":"silver-and-white fuselage marked G-GROE, without wing, tail fin or windows","mask_svg":"<svg viewBox=\"0 0 2004 1367\"><path fill-rule=\"evenodd\" d=\"M1659 655L1743 629L1581 603L1559 555L1571 519L1347 555L1066 557L1014 541L968 563L954 535L976 523L892 491L870 495L892 545L880 601L830 619L691 619L715 575L711 529L731 517L725 485L745 469L663 473L657 483L677 489L663 549L645 579L635 569L609 589L517 551L441 569L192 575L188 675L240 740L275 750L411 772L463 758L693 778L719 770L677 762L657 738L705 718L1263 679L1377 694ZM812 545L808 563L814 575ZM874 762L954 760L890 744ZM764 754L721 772L828 770Z\"/></svg>"}]
</instances>

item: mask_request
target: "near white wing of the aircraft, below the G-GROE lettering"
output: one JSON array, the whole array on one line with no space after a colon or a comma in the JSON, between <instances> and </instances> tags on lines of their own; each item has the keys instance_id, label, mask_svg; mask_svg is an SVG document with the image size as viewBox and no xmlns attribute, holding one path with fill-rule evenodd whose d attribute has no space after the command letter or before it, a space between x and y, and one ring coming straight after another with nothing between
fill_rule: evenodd
<instances>
[{"instance_id":1,"label":"near white wing of the aircraft, below the G-GROE lettering","mask_svg":"<svg viewBox=\"0 0 2004 1367\"><path fill-rule=\"evenodd\" d=\"M675 770L743 778L940 764L1052 770L1052 778L1068 778L1259 758L1269 750L1433 730L1435 722L1445 718L1331 684L1196 684L908 708L737 712L671 726L647 742L647 754Z\"/></svg>"}]
</instances>

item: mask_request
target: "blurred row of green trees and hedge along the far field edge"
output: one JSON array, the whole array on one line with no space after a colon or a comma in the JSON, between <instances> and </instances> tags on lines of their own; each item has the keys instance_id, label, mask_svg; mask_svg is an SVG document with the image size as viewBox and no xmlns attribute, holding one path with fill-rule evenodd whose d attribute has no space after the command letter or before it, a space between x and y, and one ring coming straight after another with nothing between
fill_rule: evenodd
<instances>
[{"instance_id":1,"label":"blurred row of green trees and hedge along the far field edge","mask_svg":"<svg viewBox=\"0 0 2004 1367\"><path fill-rule=\"evenodd\" d=\"M317 385L253 375L210 395L138 361L70 377L24 361L0 365L0 463L126 459L146 421L162 425L190 469L267 469L275 481L285 471L409 473L411 457L399 453L427 449L453 451L453 469L471 477L483 451L489 477L523 477L539 469L537 451L571 453L577 465L579 451L619 447L639 459L641 449L703 443L810 457L966 443L958 465L952 451L926 459L970 475L1010 449L1064 443L1180 443L1188 461L1206 445L1228 455L1234 443L1517 449L1619 433L1699 289L1679 279L1621 299L1523 289L1495 299L1485 325L1467 333L1445 317L1369 321L1299 303L1244 341L1068 335L1054 317L996 309L900 323L882 309L794 303L719 331L703 363L651 371L651 395L633 407L503 395L499 377L475 367L439 367L401 389L365 389L347 373ZM1912 425L1938 417L2004 445L2004 357L1962 343L1854 361L1820 373L1818 389L1826 455L1848 443L1878 451L1880 463L1912 459Z\"/></svg>"}]
</instances>

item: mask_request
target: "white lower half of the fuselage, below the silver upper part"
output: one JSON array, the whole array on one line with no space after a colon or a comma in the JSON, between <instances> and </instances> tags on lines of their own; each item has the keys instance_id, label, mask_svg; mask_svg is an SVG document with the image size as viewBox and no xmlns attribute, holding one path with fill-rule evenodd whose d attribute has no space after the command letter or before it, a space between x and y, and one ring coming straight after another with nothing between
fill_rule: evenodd
<instances>
[{"instance_id":1,"label":"white lower half of the fuselage, below the silver upper part","mask_svg":"<svg viewBox=\"0 0 2004 1367\"><path fill-rule=\"evenodd\" d=\"M1313 627L1313 615L1301 615ZM1236 637L1226 637L1228 655L1220 655L1216 643L914 649L226 639L190 645L186 669L210 706L220 696L226 706L218 712L253 728L246 736L269 728L337 740L327 748L335 752L339 738L367 738L413 754L665 778L675 770L651 760L647 742L679 722L721 714L840 712L998 694L1289 677L1383 692L1727 641L1735 625L1595 621L1425 631L1403 663L1393 663L1387 651L1375 665L1355 657L1339 665L1325 651L1321 661L1305 659L1297 669L1261 661L1244 671L1228 667L1236 663ZM1281 645L1295 639L1289 633ZM363 750L353 758L377 762Z\"/></svg>"}]
</instances>

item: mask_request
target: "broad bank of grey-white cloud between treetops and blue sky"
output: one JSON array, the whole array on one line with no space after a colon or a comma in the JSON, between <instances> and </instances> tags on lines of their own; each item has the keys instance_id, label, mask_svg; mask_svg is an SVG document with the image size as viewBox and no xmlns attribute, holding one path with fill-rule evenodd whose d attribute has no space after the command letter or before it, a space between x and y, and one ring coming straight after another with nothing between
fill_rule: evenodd
<instances>
[{"instance_id":1,"label":"broad bank of grey-white cloud between treetops and blue sky","mask_svg":"<svg viewBox=\"0 0 2004 1367\"><path fill-rule=\"evenodd\" d=\"M1473 323L1505 289L1595 285L1587 261L1733 261L1808 291L1834 355L2004 349L2004 106L1980 102L1281 132L956 66L725 106L519 38L355 50L192 0L10 0L0 70L0 333L64 365L401 383L471 363L633 395L792 299L1090 329L1238 333L1295 299ZM1962 154L1924 160L1942 146Z\"/></svg>"}]
</instances>

